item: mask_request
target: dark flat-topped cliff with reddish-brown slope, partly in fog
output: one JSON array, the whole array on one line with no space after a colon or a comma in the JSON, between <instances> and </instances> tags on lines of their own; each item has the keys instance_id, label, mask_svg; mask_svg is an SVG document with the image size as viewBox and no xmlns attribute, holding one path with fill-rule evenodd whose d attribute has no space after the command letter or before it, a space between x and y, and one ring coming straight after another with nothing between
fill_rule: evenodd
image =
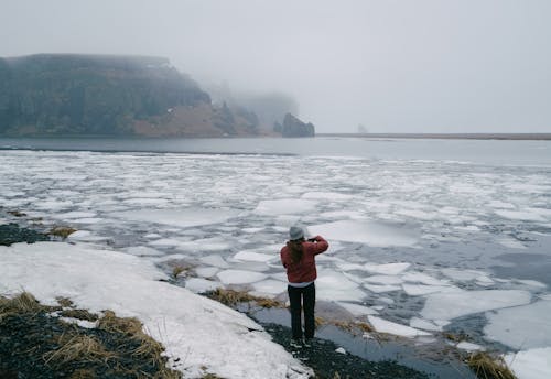
<instances>
[{"instance_id":1,"label":"dark flat-topped cliff with reddish-brown slope, partly in fog","mask_svg":"<svg viewBox=\"0 0 551 379\"><path fill-rule=\"evenodd\" d=\"M161 57L0 58L0 134L257 136L246 109L210 97Z\"/></svg>"}]
</instances>

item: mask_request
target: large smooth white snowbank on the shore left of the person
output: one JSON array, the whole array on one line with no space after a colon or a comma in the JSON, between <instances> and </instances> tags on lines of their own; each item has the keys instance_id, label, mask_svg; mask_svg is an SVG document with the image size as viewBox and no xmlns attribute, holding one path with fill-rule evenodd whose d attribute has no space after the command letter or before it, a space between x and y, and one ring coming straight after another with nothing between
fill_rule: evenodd
<instances>
[{"instance_id":1,"label":"large smooth white snowbank on the shore left of the person","mask_svg":"<svg viewBox=\"0 0 551 379\"><path fill-rule=\"evenodd\" d=\"M63 242L15 243L0 247L0 255L6 263L0 264L1 293L13 295L24 286L45 304L66 296L90 312L111 310L118 316L138 317L185 377L203 376L205 362L209 372L235 379L306 379L312 373L272 343L260 325L159 281L166 275L147 260Z\"/></svg>"}]
</instances>

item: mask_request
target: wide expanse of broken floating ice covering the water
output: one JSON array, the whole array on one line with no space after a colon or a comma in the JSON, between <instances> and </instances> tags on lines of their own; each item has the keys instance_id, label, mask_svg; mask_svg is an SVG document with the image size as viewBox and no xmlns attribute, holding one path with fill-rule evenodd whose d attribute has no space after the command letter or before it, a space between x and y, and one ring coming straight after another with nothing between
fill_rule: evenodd
<instances>
[{"instance_id":1,"label":"wide expanse of broken floating ice covering the water","mask_svg":"<svg viewBox=\"0 0 551 379\"><path fill-rule=\"evenodd\" d=\"M300 224L331 243L317 259L318 300L409 338L460 329L474 338L460 348L520 351L510 361L521 378L538 378L526 373L532 361L551 375L551 278L538 271L551 267L550 167L31 151L0 159L0 206L77 227L69 240L78 249L95 242L166 270L193 266L185 285L195 292L240 285L276 297L285 292L279 249Z\"/></svg>"}]
</instances>

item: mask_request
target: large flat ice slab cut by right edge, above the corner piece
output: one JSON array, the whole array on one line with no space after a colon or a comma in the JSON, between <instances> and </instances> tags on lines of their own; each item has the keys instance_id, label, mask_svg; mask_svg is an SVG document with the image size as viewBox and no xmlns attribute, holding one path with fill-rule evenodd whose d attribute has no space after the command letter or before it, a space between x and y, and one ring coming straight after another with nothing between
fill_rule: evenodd
<instances>
[{"instance_id":1,"label":"large flat ice slab cut by right edge, above the corner piece","mask_svg":"<svg viewBox=\"0 0 551 379\"><path fill-rule=\"evenodd\" d=\"M486 338L512 348L551 346L551 301L488 312Z\"/></svg>"}]
</instances>

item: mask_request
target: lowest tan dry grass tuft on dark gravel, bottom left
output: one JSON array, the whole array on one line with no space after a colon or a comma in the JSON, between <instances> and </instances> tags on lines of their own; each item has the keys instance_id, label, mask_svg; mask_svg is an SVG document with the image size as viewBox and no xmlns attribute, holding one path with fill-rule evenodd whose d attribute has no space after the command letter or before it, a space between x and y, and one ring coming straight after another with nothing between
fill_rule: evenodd
<instances>
[{"instance_id":1,"label":"lowest tan dry grass tuft on dark gravel, bottom left","mask_svg":"<svg viewBox=\"0 0 551 379\"><path fill-rule=\"evenodd\" d=\"M106 350L101 343L87 335L63 334L58 343L58 349L44 355L46 365L61 366L75 360L107 364L117 357L117 354Z\"/></svg>"}]
</instances>

